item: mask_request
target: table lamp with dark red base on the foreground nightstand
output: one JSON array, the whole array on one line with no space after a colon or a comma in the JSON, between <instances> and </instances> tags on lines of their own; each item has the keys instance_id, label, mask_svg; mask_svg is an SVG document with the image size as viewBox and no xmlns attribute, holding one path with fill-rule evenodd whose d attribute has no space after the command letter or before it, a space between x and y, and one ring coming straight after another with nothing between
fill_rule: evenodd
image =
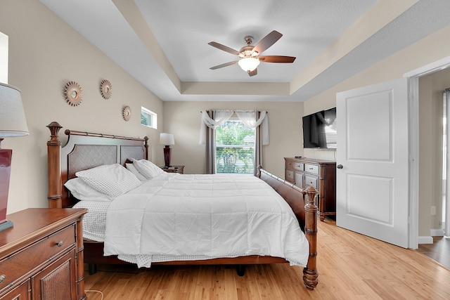
<instances>
[{"instance_id":1,"label":"table lamp with dark red base on the foreground nightstand","mask_svg":"<svg viewBox=\"0 0 450 300\"><path fill-rule=\"evenodd\" d=\"M20 90L15 86L0 83L0 231L13 227L13 222L6 219L13 150L2 149L1 141L4 138L28 134L30 133Z\"/></svg>"}]
</instances>

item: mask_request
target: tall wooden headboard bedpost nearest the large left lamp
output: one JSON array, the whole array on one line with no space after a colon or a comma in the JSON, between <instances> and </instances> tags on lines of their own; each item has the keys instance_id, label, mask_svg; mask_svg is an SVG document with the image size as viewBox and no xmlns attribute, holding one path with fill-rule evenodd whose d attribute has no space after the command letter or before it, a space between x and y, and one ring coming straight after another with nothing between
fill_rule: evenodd
<instances>
[{"instance_id":1,"label":"tall wooden headboard bedpost nearest the large left lamp","mask_svg":"<svg viewBox=\"0 0 450 300\"><path fill-rule=\"evenodd\" d=\"M60 149L61 142L58 138L58 131L63 128L58 122L51 122L47 125L50 129L51 138L47 142L47 163L49 170L49 200L50 208L63 208L63 182L61 179Z\"/></svg>"}]
</instances>

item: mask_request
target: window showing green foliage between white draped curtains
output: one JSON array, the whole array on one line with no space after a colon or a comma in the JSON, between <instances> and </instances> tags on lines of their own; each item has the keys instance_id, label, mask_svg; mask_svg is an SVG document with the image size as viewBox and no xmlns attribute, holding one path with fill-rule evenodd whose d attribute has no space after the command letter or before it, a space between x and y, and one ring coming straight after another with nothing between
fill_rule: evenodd
<instances>
[{"instance_id":1,"label":"window showing green foliage between white draped curtains","mask_svg":"<svg viewBox=\"0 0 450 300\"><path fill-rule=\"evenodd\" d=\"M255 129L231 117L216 129L216 173L253 174Z\"/></svg>"}]
</instances>

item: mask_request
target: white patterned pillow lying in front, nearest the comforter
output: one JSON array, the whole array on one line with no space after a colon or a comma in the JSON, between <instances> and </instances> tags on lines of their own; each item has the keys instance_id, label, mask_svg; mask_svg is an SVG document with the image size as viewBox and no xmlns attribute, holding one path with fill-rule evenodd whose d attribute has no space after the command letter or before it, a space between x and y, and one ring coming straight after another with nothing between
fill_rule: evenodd
<instances>
[{"instance_id":1,"label":"white patterned pillow lying in front, nearest the comforter","mask_svg":"<svg viewBox=\"0 0 450 300\"><path fill-rule=\"evenodd\" d=\"M106 164L92 169L78 171L75 176L95 188L98 192L115 198L139 185L141 181L120 164Z\"/></svg>"}]
</instances>

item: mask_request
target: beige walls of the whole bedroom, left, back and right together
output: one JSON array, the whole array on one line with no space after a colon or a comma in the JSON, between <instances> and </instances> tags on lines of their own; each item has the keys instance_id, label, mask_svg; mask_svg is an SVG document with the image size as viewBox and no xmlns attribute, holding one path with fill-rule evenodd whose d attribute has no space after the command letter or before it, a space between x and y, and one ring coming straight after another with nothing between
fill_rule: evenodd
<instances>
[{"instance_id":1,"label":"beige walls of the whole bedroom, left, back and right together","mask_svg":"<svg viewBox=\"0 0 450 300\"><path fill-rule=\"evenodd\" d=\"M186 173L203 173L205 151L203 145L198 145L200 110L267 110L271 143L264 147L264 167L284 176L285 156L335 157L333 150L302 151L302 115L335 106L335 93L339 91L401 78L405 72L450 54L450 27L445 27L304 103L163 103L39 1L0 1L0 32L9 37L9 84L22 91L30 129L30 136L8 138L2 143L4 148L13 149L8 213L46 206L49 131L45 126L51 121L60 122L66 129L149 136L150 159L157 164L163 161L162 146L155 141L164 128L176 138L172 162L185 164ZM100 96L98 84L101 79L108 79L113 84L110 100ZM63 86L67 81L77 81L82 86L84 100L78 107L70 107L63 100ZM130 105L133 110L129 122L122 120L122 105ZM158 113L158 130L139 124L141 105ZM423 148L422 144L420 148ZM420 159L423 159L422 155ZM420 176L432 176L427 174L428 171L421 171ZM430 211L431 204L426 201L430 200L421 198L420 207ZM420 226L427 222L431 223L429 217L428 221L420 221ZM422 228L420 230L423 232Z\"/></svg>"}]
</instances>

